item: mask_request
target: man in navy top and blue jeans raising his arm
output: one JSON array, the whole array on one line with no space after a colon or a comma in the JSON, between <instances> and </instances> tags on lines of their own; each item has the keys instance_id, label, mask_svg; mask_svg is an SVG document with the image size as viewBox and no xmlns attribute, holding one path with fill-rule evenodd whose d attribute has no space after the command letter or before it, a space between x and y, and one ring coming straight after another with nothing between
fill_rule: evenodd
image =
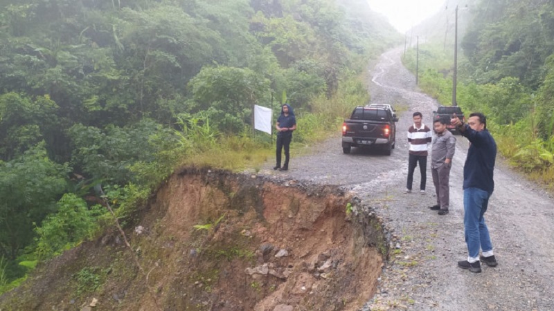
<instances>
[{"instance_id":1,"label":"man in navy top and blue jeans raising his arm","mask_svg":"<svg viewBox=\"0 0 554 311\"><path fill-rule=\"evenodd\" d=\"M463 225L469 255L466 261L458 261L458 267L481 272L479 260L490 267L497 265L483 217L494 190L493 171L497 143L487 130L487 119L483 113L470 114L467 124L463 124L456 115L452 116L450 122L458 126L462 135L470 140L470 150L467 151L463 168ZM479 249L482 250L481 257Z\"/></svg>"}]
</instances>

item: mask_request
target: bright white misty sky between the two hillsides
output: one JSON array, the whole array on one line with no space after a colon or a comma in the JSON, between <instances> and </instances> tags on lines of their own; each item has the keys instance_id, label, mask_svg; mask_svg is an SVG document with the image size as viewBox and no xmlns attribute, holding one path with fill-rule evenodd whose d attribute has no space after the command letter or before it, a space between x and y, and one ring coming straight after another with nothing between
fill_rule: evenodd
<instances>
[{"instance_id":1,"label":"bright white misty sky between the two hillsides","mask_svg":"<svg viewBox=\"0 0 554 311\"><path fill-rule=\"evenodd\" d=\"M400 32L444 10L445 0L367 0L372 10L385 15Z\"/></svg>"}]
</instances>

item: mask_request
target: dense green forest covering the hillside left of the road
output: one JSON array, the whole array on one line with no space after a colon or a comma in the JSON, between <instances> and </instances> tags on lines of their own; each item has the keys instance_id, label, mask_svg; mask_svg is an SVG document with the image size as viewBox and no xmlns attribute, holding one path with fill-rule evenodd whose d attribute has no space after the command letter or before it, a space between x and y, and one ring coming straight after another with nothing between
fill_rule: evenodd
<instances>
[{"instance_id":1,"label":"dense green forest covering the hillside left of the road","mask_svg":"<svg viewBox=\"0 0 554 311\"><path fill-rule=\"evenodd\" d=\"M364 0L0 0L0 29L0 289L91 236L98 203L125 217L177 164L256 158L253 104L286 97L315 137L400 39Z\"/></svg>"}]
</instances>

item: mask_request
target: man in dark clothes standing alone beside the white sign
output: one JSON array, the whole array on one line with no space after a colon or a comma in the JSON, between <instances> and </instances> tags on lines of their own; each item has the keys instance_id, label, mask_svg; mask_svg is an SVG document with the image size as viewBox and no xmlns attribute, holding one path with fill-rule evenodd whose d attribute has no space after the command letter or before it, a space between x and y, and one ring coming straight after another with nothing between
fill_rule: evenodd
<instances>
[{"instance_id":1,"label":"man in dark clothes standing alone beside the white sign","mask_svg":"<svg viewBox=\"0 0 554 311\"><path fill-rule=\"evenodd\" d=\"M273 169L287 171L289 169L289 146L292 141L292 131L296 130L296 117L294 117L294 111L289 104L281 106L281 114L277 119L275 128L277 129L277 165ZM285 147L285 163L281 167L283 147Z\"/></svg>"}]
</instances>

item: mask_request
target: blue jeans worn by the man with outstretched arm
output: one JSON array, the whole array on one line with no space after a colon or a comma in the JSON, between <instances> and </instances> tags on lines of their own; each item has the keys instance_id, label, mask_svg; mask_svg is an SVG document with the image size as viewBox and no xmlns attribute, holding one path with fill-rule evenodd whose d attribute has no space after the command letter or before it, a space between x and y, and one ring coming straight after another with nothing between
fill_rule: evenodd
<instances>
[{"instance_id":1,"label":"blue jeans worn by the man with outstretched arm","mask_svg":"<svg viewBox=\"0 0 554 311\"><path fill-rule=\"evenodd\" d=\"M489 229L483 217L491 194L492 192L479 188L467 188L463 191L463 225L470 258L478 259L479 249L483 252L492 251Z\"/></svg>"}]
</instances>

